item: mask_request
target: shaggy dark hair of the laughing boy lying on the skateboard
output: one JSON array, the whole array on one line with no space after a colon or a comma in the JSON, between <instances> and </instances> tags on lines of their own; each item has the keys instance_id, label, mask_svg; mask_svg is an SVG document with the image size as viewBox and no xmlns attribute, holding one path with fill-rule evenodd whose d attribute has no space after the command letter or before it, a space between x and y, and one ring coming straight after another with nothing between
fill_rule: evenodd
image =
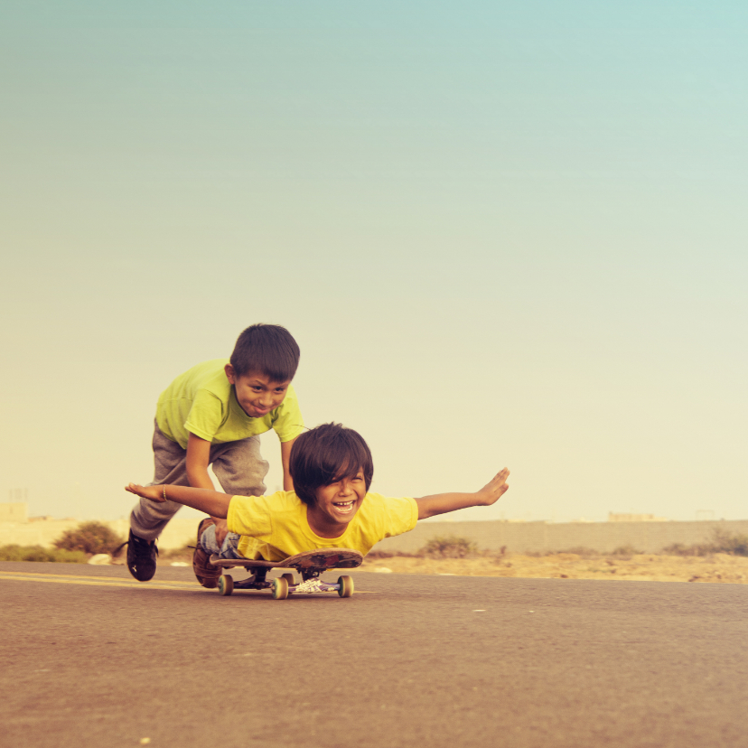
<instances>
[{"instance_id":1,"label":"shaggy dark hair of the laughing boy lying on the skateboard","mask_svg":"<svg viewBox=\"0 0 748 748\"><path fill-rule=\"evenodd\" d=\"M341 478L353 478L360 470L369 491L374 476L369 445L344 425L318 425L300 435L291 447L289 472L296 496L304 504L316 504L318 488Z\"/></svg>"}]
</instances>

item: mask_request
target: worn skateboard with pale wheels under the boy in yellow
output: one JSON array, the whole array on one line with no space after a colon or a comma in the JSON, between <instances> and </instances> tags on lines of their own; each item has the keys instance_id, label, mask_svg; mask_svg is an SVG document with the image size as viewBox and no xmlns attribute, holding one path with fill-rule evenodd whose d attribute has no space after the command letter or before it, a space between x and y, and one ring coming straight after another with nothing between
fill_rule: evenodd
<instances>
[{"instance_id":1,"label":"worn skateboard with pale wheels under the boy in yellow","mask_svg":"<svg viewBox=\"0 0 748 748\"><path fill-rule=\"evenodd\" d=\"M219 558L210 556L213 566L230 569L235 566L252 572L247 579L238 582L230 574L219 577L220 594L231 594L234 590L272 590L275 600L285 600L289 594L313 594L337 592L341 597L351 597L353 580L341 576L334 584L323 582L320 575L328 569L352 569L361 565L363 556L351 548L319 548L297 553L283 561L262 561L251 558ZM268 569L295 569L301 575L298 582L293 574L286 573L275 579L266 579Z\"/></svg>"}]
</instances>

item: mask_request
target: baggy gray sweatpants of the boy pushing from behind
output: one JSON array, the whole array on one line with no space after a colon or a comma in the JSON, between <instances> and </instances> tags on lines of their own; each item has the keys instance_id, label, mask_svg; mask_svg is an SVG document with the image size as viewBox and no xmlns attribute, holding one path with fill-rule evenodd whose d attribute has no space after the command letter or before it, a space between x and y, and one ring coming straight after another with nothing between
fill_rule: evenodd
<instances>
[{"instance_id":1,"label":"baggy gray sweatpants of the boy pushing from behind","mask_svg":"<svg viewBox=\"0 0 748 748\"><path fill-rule=\"evenodd\" d=\"M262 459L259 436L210 446L210 464L221 488L229 495L263 496L268 464ZM189 486L187 479L187 450L169 439L154 425L155 473L149 486L168 483ZM170 519L182 504L175 501L158 503L141 499L130 514L130 528L138 538L154 540L161 535Z\"/></svg>"}]
</instances>

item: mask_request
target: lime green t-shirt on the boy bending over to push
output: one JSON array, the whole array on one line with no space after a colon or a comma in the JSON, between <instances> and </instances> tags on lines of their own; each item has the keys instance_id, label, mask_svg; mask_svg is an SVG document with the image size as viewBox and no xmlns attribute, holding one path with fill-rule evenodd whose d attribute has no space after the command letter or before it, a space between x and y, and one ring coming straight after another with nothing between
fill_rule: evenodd
<instances>
[{"instance_id":1,"label":"lime green t-shirt on the boy bending over to push","mask_svg":"<svg viewBox=\"0 0 748 748\"><path fill-rule=\"evenodd\" d=\"M226 377L228 359L205 361L173 380L158 398L156 423L173 442L187 449L190 434L211 444L224 444L265 434L272 428L281 442L290 442L304 430L294 388L284 401L262 418L248 416L238 404L234 386Z\"/></svg>"}]
</instances>

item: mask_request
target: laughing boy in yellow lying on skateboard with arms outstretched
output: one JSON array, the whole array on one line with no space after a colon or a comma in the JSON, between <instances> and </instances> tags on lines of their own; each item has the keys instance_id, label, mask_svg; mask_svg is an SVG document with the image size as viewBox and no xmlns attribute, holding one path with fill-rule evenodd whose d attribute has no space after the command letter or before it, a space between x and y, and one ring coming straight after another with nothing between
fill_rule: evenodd
<instances>
[{"instance_id":1,"label":"laughing boy in yellow lying on skateboard with arms outstretched","mask_svg":"<svg viewBox=\"0 0 748 748\"><path fill-rule=\"evenodd\" d=\"M475 493L436 493L420 499L393 499L369 493L374 464L369 446L350 428L319 425L300 435L289 470L295 491L269 496L229 496L188 486L140 486L126 491L152 501L176 501L210 514L198 528L192 566L201 584L215 587L221 558L283 561L316 548L352 548L364 556L382 538L416 527L418 519L467 507L491 506L509 489L504 468ZM214 517L227 518L217 531Z\"/></svg>"}]
</instances>

